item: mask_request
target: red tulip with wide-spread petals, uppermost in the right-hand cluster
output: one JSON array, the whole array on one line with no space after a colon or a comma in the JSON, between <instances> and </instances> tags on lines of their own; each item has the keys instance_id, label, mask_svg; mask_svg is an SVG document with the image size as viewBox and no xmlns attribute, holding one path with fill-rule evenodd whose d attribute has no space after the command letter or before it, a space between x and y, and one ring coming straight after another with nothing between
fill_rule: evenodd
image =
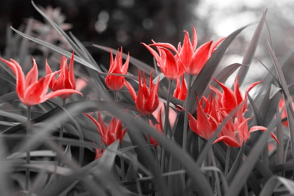
<instances>
[{"instance_id":1,"label":"red tulip with wide-spread petals, uppermost in the right-hand cluster","mask_svg":"<svg viewBox=\"0 0 294 196\"><path fill-rule=\"evenodd\" d=\"M255 87L257 84L261 83L263 80L254 82L250 84L245 91L245 97L242 97L242 93L239 88L239 76L236 77L236 80L234 82L234 91L228 87L226 87L223 83L219 82L215 78L212 78L215 80L222 88L223 93L221 91L213 86L209 86L209 88L214 91L217 96L217 103L220 107L221 111L223 111L225 114L229 114L231 111L233 111L242 101L247 99L247 92L249 92L253 87ZM243 113L245 112L247 108L247 102L245 102L243 107Z\"/></svg>"}]
</instances>

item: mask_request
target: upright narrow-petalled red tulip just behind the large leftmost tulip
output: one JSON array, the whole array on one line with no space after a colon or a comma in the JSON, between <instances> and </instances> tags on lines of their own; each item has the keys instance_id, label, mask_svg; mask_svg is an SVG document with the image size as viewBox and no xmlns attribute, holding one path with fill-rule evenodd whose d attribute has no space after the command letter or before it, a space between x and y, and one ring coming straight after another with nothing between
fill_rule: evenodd
<instances>
[{"instance_id":1,"label":"upright narrow-petalled red tulip just behind the large leftmost tulip","mask_svg":"<svg viewBox=\"0 0 294 196\"><path fill-rule=\"evenodd\" d=\"M75 80L74 80L74 73L73 73L73 56L74 56L74 52L72 54L69 70L68 70L67 58L65 56L63 56L63 57L60 56L60 67L59 67L60 73L59 73L57 79L55 78L55 76L52 77L52 79L49 83L49 87L53 92L63 90L63 89L75 90ZM51 69L47 63L47 59L46 59L46 74L49 75L51 73L52 73L52 71L51 71ZM74 91L74 92L79 95L82 95L78 91ZM71 97L72 94L73 93L61 94L58 97L60 97L62 99L67 99L67 98Z\"/></svg>"}]
</instances>

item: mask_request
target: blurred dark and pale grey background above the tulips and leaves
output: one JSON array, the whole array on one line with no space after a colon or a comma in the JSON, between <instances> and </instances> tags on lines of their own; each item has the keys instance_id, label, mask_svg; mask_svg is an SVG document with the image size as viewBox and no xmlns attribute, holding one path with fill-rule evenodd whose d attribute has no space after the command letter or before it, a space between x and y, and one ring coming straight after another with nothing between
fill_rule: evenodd
<instances>
[{"instance_id":1,"label":"blurred dark and pale grey background above the tulips and leaves","mask_svg":"<svg viewBox=\"0 0 294 196\"><path fill-rule=\"evenodd\" d=\"M92 44L123 51L153 66L153 58L140 43L169 42L177 45L183 41L186 29L192 35L196 27L198 45L211 39L217 40L234 30L251 23L234 40L221 61L221 67L241 63L248 43L256 28L256 22L269 8L269 24L276 56L288 54L283 69L293 69L294 55L294 1L293 0L35 0L43 11L67 32L71 31L91 52L98 63L109 66L109 54L92 47ZM30 0L1 1L0 51L9 44L9 25L25 32L28 18L32 20L31 35L64 49L71 50L42 16L33 8ZM8 33L7 33L8 32ZM7 40L8 39L8 40ZM271 59L266 47L269 33L266 25L256 54L267 65ZM31 54L49 56L44 47L32 44ZM55 52L56 53L56 52ZM290 55L289 55L290 54ZM131 71L131 70L130 70ZM131 71L132 72L132 71ZM254 58L247 80L264 77L266 70ZM288 78L294 82L294 79Z\"/></svg>"}]
</instances>

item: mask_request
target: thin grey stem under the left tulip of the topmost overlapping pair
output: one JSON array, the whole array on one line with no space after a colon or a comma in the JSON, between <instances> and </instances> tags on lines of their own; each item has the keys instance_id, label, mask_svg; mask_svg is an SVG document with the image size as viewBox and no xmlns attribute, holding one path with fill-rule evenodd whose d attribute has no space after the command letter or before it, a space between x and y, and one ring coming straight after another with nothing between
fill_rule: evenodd
<instances>
[{"instance_id":1,"label":"thin grey stem under the left tulip of the topmost overlapping pair","mask_svg":"<svg viewBox=\"0 0 294 196\"><path fill-rule=\"evenodd\" d=\"M167 98L167 106L166 106L166 112L165 112L165 118L164 118L164 129L163 129L163 135L167 137L168 135L168 123L169 123L169 116L170 116L170 99L172 94L172 80L169 82L169 91L168 91L168 98ZM161 173L164 173L164 167L165 167L165 149L162 147L161 151Z\"/></svg>"}]
</instances>

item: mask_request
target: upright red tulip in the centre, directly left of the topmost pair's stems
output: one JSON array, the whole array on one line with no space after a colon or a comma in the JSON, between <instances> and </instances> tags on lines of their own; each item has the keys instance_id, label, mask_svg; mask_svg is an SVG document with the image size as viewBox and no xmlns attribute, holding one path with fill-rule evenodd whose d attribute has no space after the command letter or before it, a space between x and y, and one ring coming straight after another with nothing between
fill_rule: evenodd
<instances>
[{"instance_id":1,"label":"upright red tulip in the centre, directly left of the topmost pair's stems","mask_svg":"<svg viewBox=\"0 0 294 196\"><path fill-rule=\"evenodd\" d=\"M152 73L153 73L153 69L151 70L150 85L148 90L146 79L145 79L145 71L143 71L143 86L142 86L141 73L139 70L139 89L138 89L137 96L132 85L126 80L124 80L125 86L128 88L132 98L135 101L137 110L144 116L149 116L150 114L152 114L159 105L158 85L159 85L160 77L158 77L157 83L156 85L154 85L152 81Z\"/></svg>"}]
</instances>

